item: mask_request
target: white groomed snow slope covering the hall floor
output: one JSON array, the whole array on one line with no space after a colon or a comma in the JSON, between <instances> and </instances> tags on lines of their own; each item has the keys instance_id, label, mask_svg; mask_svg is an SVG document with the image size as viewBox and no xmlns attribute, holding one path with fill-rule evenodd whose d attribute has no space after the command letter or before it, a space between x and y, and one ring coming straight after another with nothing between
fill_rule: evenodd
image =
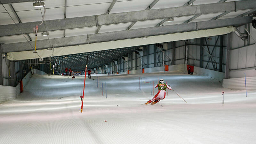
<instances>
[{"instance_id":1,"label":"white groomed snow slope covering the hall floor","mask_svg":"<svg viewBox=\"0 0 256 144\"><path fill-rule=\"evenodd\" d=\"M256 91L245 97L219 80L182 72L144 74L139 90L139 77L99 76L99 89L96 76L86 78L81 113L84 77L35 74L18 98L0 104L0 143L255 144ZM188 103L168 91L156 105L142 105L153 97L143 82L157 77Z\"/></svg>"}]
</instances>

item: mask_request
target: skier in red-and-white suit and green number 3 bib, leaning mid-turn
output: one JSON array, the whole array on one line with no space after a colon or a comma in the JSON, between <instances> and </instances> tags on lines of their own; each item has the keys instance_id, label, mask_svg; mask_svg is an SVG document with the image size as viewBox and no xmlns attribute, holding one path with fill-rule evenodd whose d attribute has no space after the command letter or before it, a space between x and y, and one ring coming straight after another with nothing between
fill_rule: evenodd
<instances>
[{"instance_id":1,"label":"skier in red-and-white suit and green number 3 bib, leaning mid-turn","mask_svg":"<svg viewBox=\"0 0 256 144\"><path fill-rule=\"evenodd\" d=\"M168 88L169 90L172 90L172 88L171 88L169 85L167 85L167 84L164 83L164 80L163 80L163 79L160 79L159 84L156 84L155 87L158 87L158 92L157 92L157 94L154 96L153 99L148 100L148 101L145 103L145 105L147 105L147 104L149 104L149 103L150 103L151 105L154 105L154 104L156 104L158 101L164 100L166 88Z\"/></svg>"}]
</instances>

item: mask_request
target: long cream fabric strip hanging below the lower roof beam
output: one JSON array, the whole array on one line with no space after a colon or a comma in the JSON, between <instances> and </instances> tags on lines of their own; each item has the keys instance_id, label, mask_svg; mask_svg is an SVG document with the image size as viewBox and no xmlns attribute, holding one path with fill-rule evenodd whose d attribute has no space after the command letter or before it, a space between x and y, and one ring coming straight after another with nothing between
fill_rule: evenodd
<instances>
[{"instance_id":1,"label":"long cream fabric strip hanging below the lower roof beam","mask_svg":"<svg viewBox=\"0 0 256 144\"><path fill-rule=\"evenodd\" d=\"M224 28L213 28L213 29L205 29L198 31L190 31L183 33L175 33L175 34L166 34L159 36L148 36L148 38L133 38L133 39L124 39L124 40L116 40L109 42L100 42L93 44L81 44L75 46L65 46L54 48L54 50L37 50L37 53L33 53L33 51L23 51L23 52L8 52L7 59L8 60L28 60L28 59L36 59L36 58L46 58L46 57L56 57L62 55L70 55L77 53L86 53L86 52L95 52L109 49L117 49L117 48L125 48L146 44L156 44L156 43L164 43L164 42L172 42L186 39L194 39L200 37L207 36L219 36L225 35L230 32L234 32L236 30L235 27L224 27ZM40 56L40 57L39 57Z\"/></svg>"}]
</instances>

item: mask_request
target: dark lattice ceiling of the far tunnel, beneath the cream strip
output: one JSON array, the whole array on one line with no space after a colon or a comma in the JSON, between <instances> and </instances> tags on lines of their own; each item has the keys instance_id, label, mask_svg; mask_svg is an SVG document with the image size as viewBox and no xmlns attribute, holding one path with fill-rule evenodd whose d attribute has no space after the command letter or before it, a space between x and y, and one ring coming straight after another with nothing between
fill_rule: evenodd
<instances>
[{"instance_id":1,"label":"dark lattice ceiling of the far tunnel, beneath the cream strip","mask_svg":"<svg viewBox=\"0 0 256 144\"><path fill-rule=\"evenodd\" d=\"M95 68L98 66L102 66L108 62L111 62L114 59L120 58L123 55L131 53L136 49L139 49L139 46L59 56L56 58L60 60L61 70L64 70L65 68L80 70L80 69L84 69L85 67L87 55L88 55L88 68Z\"/></svg>"}]
</instances>

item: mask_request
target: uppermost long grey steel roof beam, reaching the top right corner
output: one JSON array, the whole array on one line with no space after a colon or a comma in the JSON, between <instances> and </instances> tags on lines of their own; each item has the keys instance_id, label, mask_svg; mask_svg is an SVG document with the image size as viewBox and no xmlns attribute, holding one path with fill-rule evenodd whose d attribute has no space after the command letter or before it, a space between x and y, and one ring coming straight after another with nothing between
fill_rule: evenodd
<instances>
[{"instance_id":1,"label":"uppermost long grey steel roof beam, reaching the top right corner","mask_svg":"<svg viewBox=\"0 0 256 144\"><path fill-rule=\"evenodd\" d=\"M134 12L101 14L96 16L66 18L59 20L46 20L44 22L47 26L47 31L56 31L63 29L86 28L135 21L158 20L191 15L212 14L219 12L233 12L255 8L255 0L243 0L235 2L200 4ZM30 34L33 33L33 27L36 24L38 24L38 22L20 23L17 25L23 31L23 34ZM38 32L44 31L46 31L44 27L40 27L38 29ZM0 36L12 36L21 34L22 33L20 32L20 30L14 24L0 26Z\"/></svg>"}]
</instances>

